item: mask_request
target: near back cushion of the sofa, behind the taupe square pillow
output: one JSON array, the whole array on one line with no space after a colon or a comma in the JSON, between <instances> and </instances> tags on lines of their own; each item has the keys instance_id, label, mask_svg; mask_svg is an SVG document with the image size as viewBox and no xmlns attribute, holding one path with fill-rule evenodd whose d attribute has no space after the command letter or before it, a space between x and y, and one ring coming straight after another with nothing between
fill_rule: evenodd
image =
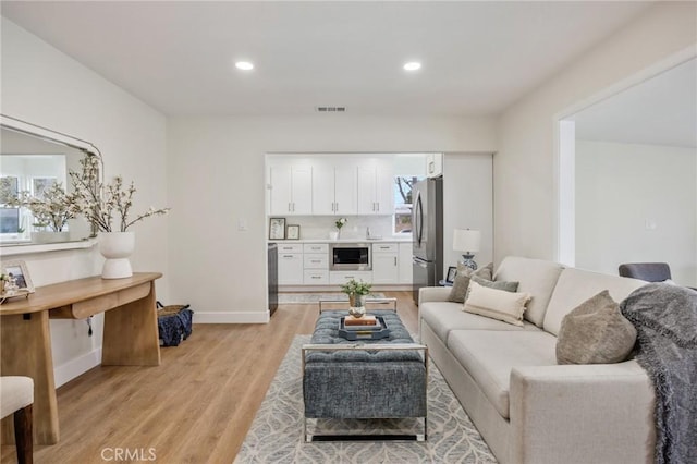
<instances>
[{"instance_id":1,"label":"near back cushion of the sofa, behind the taupe square pillow","mask_svg":"<svg viewBox=\"0 0 697 464\"><path fill-rule=\"evenodd\" d=\"M626 298L629 293L647 282L626 277L608 276L582 269L564 269L559 277L554 293L549 301L545 316L545 330L559 334L562 319L588 296L608 290L615 302Z\"/></svg>"}]
</instances>

